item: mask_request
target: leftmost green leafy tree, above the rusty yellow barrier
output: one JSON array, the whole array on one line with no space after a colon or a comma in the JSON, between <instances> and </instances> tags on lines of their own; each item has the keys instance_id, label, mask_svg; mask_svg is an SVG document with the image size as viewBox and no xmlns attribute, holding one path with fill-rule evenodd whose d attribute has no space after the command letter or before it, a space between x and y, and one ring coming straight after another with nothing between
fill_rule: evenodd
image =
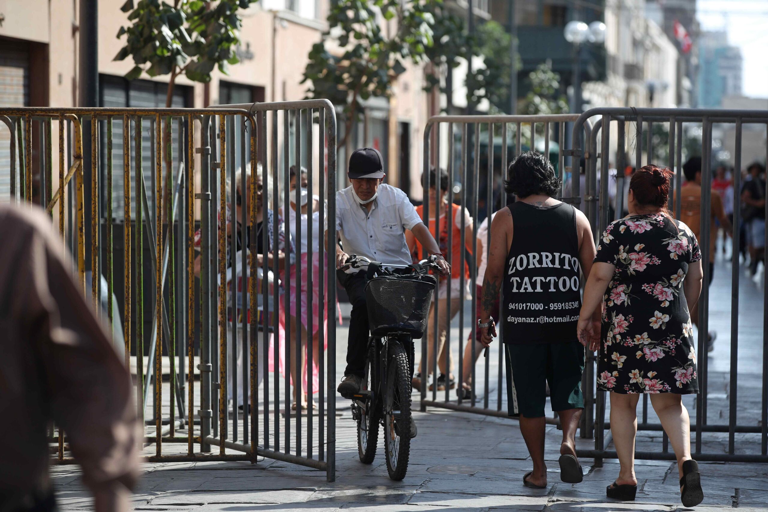
<instances>
[{"instance_id":1,"label":"leftmost green leafy tree, above the rusty yellow barrier","mask_svg":"<svg viewBox=\"0 0 768 512\"><path fill-rule=\"evenodd\" d=\"M128 80L142 73L151 77L168 74L165 106L170 107L174 84L180 74L191 81L207 83L218 67L227 74L230 64L239 59L235 48L240 43L238 32L242 19L238 9L258 0L127 0L121 7L127 12L127 27L121 27L118 38L126 36L115 61L134 59L134 68L125 74Z\"/></svg>"}]
</instances>

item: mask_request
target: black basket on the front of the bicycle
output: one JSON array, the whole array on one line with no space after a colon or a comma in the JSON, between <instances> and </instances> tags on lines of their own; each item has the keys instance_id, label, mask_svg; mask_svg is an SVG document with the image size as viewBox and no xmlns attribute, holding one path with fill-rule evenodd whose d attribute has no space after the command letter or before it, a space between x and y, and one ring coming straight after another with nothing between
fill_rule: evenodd
<instances>
[{"instance_id":1,"label":"black basket on the front of the bicycle","mask_svg":"<svg viewBox=\"0 0 768 512\"><path fill-rule=\"evenodd\" d=\"M424 335L437 280L433 276L381 276L366 285L371 335Z\"/></svg>"}]
</instances>

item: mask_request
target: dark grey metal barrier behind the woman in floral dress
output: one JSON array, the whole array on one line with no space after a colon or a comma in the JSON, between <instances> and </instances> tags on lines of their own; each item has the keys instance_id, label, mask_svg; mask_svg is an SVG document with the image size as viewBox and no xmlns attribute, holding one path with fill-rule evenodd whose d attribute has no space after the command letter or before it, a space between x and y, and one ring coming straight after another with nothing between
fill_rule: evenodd
<instances>
[{"instance_id":1,"label":"dark grey metal barrier behind the woman in floral dress","mask_svg":"<svg viewBox=\"0 0 768 512\"><path fill-rule=\"evenodd\" d=\"M762 387L760 400L760 420L752 424L740 423L738 411L740 402L738 400L739 387L739 308L740 308L740 266L738 258L738 248L740 246L740 207L741 200L741 168L742 164L748 162L742 161L742 135L743 127L748 124L760 124L768 127L768 111L735 111L735 110L700 110L700 109L661 109L661 108L594 108L584 114L581 114L578 121L574 124L574 134L577 134L592 117L600 116L600 119L592 127L591 137L588 137L588 218L594 226L594 235L605 229L607 224L613 220L609 215L609 154L611 148L611 124L614 124L617 134L616 161L617 168L621 171L627 162L631 162L630 154L627 154L627 128L634 131L634 164L635 168L640 168L644 164L657 164L669 167L676 171L674 179L675 199L670 197L670 210L674 216L680 218L680 208L682 195L680 193L683 182L683 134L686 125L694 124L702 128L702 183L711 183L713 170L713 147L712 130L713 124L730 124L735 127L734 137L734 168L733 173L733 258L731 261L731 294L730 294L730 375L727 385L728 391L728 421L724 424L717 421L707 413L707 404L709 402L709 358L707 357L707 327L709 325L709 302L710 292L707 282L710 279L710 197L712 190L710 187L702 187L701 197L701 225L700 225L700 246L702 250L702 264L704 271L704 286L701 289L699 299L699 318L698 318L698 340L697 352L699 359L699 382L700 393L695 395L694 407L696 409L696 422L691 425L691 431L695 432L695 448L693 457L699 461L746 461L746 462L768 462L768 309L765 307L766 294L768 294L768 273L763 274L763 354L762 354ZM666 143L661 141L668 150L667 161L656 161L654 157L653 127L662 125L668 134ZM598 148L598 134L601 135L600 147ZM647 137L647 139L644 139ZM766 148L768 151L768 148ZM573 157L581 155L581 144L578 138L574 138L574 150L569 152ZM644 155L645 154L645 155ZM644 158L645 156L645 158ZM598 175L597 160L601 161ZM615 186L617 187L617 204L614 218L621 218L622 202L624 200L624 176L619 172ZM600 184L600 190L597 184ZM611 183L611 186L614 186ZM768 190L766 190L768 193ZM763 196L765 197L765 196ZM599 201L598 201L599 198ZM768 243L768 235L766 235ZM720 298L723 300L725 298ZM592 368L594 375L594 368ZM595 389L594 378L591 378L589 385L585 388L585 399L594 402L597 407L596 417L594 418L594 450L580 450L578 454L581 457L594 457L597 464L602 464L604 458L615 458L616 452L607 450L610 438L605 435L605 428L610 424L605 421L606 413L606 393ZM642 420L638 422L638 430L661 431L660 423L650 423L648 421L648 399L647 395L643 397L641 408ZM742 415L742 420L745 419ZM749 418L754 421L755 418ZM707 453L702 452L704 433L727 433L727 453ZM591 432L590 432L591 434ZM740 434L737 438L737 434ZM759 434L759 436L749 436L745 434ZM590 435L591 437L591 435ZM757 440L759 437L759 441ZM737 442L740 441L740 442ZM757 444L760 444L759 450ZM759 451L759 453L758 453ZM663 434L662 446L660 451L637 451L635 457L638 459L651 460L674 460L674 453L669 451L669 442L667 434Z\"/></svg>"}]
</instances>

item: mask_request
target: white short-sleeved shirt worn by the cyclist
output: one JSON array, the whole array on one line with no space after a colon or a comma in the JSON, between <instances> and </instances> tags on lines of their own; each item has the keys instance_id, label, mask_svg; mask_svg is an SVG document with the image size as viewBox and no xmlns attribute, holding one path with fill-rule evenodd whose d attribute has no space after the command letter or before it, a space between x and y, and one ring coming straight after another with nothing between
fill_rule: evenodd
<instances>
[{"instance_id":1,"label":"white short-sleeved shirt worn by the cyclist","mask_svg":"<svg viewBox=\"0 0 768 512\"><path fill-rule=\"evenodd\" d=\"M382 183L370 213L357 202L352 186L336 192L336 231L344 252L382 263L410 265L405 230L422 223L406 193Z\"/></svg>"}]
</instances>

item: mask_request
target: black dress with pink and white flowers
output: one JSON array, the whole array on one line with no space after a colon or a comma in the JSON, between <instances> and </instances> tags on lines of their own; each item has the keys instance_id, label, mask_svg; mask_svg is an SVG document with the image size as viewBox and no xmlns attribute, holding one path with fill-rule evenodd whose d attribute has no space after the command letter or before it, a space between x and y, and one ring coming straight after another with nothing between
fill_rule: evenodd
<instances>
[{"instance_id":1,"label":"black dress with pink and white flowers","mask_svg":"<svg viewBox=\"0 0 768 512\"><path fill-rule=\"evenodd\" d=\"M698 392L683 281L699 259L694 233L662 214L628 216L607 227L594 261L616 271L603 296L598 389Z\"/></svg>"}]
</instances>

